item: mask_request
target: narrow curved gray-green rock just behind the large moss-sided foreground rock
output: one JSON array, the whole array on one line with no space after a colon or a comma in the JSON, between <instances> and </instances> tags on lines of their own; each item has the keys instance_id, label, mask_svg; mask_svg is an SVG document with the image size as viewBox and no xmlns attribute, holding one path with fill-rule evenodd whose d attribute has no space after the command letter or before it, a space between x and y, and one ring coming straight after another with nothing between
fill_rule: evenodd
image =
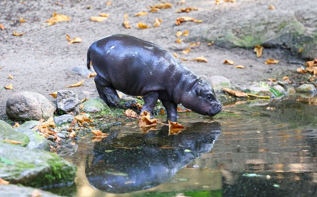
<instances>
[{"instance_id":1,"label":"narrow curved gray-green rock just behind the large moss-sided foreground rock","mask_svg":"<svg viewBox=\"0 0 317 197\"><path fill-rule=\"evenodd\" d=\"M50 150L50 145L46 138L42 137L40 134L38 134L36 131L17 127L14 128L15 131L18 131L20 133L23 133L27 135L30 138L30 142L27 144L27 148L30 149L39 149L39 150Z\"/></svg>"}]
</instances>

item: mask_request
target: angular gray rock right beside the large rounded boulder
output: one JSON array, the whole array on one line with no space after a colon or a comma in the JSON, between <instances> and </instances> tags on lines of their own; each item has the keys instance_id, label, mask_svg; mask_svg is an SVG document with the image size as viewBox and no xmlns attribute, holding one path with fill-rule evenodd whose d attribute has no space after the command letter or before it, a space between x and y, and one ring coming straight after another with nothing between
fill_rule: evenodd
<instances>
[{"instance_id":1,"label":"angular gray rock right beside the large rounded boulder","mask_svg":"<svg viewBox=\"0 0 317 197\"><path fill-rule=\"evenodd\" d=\"M78 96L71 90L57 91L56 104L58 113L72 112L74 115L79 113Z\"/></svg>"}]
</instances>

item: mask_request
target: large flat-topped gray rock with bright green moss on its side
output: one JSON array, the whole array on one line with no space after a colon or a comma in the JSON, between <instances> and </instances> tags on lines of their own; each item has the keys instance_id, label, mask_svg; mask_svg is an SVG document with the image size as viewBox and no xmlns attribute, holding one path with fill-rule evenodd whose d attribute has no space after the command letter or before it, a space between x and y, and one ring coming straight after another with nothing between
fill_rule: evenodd
<instances>
[{"instance_id":1,"label":"large flat-topped gray rock with bright green moss on its side","mask_svg":"<svg viewBox=\"0 0 317 197\"><path fill-rule=\"evenodd\" d=\"M76 167L55 153L0 143L0 178L30 187L72 183Z\"/></svg>"}]
</instances>

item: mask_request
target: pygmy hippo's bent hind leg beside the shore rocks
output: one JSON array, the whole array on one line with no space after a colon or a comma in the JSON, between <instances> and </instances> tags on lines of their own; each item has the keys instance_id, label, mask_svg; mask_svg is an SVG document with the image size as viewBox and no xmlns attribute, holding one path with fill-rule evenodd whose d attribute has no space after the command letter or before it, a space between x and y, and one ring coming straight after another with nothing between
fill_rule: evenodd
<instances>
[{"instance_id":1,"label":"pygmy hippo's bent hind leg beside the shore rocks","mask_svg":"<svg viewBox=\"0 0 317 197\"><path fill-rule=\"evenodd\" d=\"M111 83L107 83L106 80L102 79L98 74L95 76L95 84L99 96L108 106L118 107L120 98L115 88L112 87Z\"/></svg>"}]
</instances>

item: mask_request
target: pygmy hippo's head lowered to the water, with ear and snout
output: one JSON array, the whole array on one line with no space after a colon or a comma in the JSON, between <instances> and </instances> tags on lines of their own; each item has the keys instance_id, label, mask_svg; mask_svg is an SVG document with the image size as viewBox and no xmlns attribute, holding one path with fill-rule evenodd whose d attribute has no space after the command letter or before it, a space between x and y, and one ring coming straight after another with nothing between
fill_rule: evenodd
<instances>
[{"instance_id":1,"label":"pygmy hippo's head lowered to the water, with ear and snout","mask_svg":"<svg viewBox=\"0 0 317 197\"><path fill-rule=\"evenodd\" d=\"M181 103L201 115L214 116L222 110L215 91L203 80L198 80L189 92L183 93Z\"/></svg>"}]
</instances>

